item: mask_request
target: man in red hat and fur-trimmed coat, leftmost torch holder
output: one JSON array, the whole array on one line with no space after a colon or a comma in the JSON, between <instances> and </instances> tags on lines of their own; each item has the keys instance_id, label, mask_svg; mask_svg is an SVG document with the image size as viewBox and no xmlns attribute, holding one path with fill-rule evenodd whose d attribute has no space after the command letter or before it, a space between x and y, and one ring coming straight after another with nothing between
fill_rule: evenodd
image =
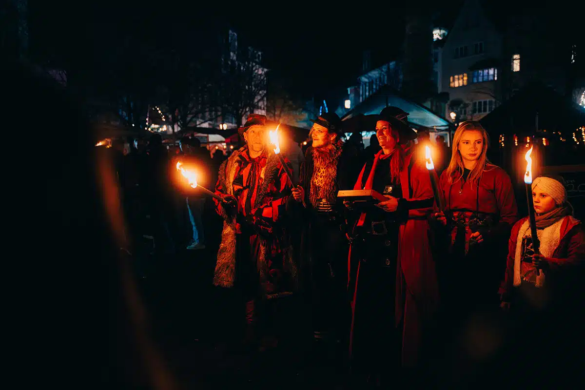
<instances>
[{"instance_id":1,"label":"man in red hat and fur-trimmed coat, leftmost torch holder","mask_svg":"<svg viewBox=\"0 0 585 390\"><path fill-rule=\"evenodd\" d=\"M286 295L296 268L281 218L291 182L266 148L266 116L250 114L238 129L246 141L219 167L214 198L224 219L214 285L234 288L245 303L245 343L255 339L259 298Z\"/></svg>"}]
</instances>

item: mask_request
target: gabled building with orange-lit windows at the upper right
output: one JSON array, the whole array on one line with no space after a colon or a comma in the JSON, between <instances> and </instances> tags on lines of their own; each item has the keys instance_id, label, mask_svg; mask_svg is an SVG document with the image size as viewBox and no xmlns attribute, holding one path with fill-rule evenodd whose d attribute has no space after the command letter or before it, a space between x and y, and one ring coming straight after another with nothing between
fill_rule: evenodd
<instances>
[{"instance_id":1,"label":"gabled building with orange-lit windows at the upper right","mask_svg":"<svg viewBox=\"0 0 585 390\"><path fill-rule=\"evenodd\" d=\"M479 120L534 81L578 99L584 85L576 65L579 34L571 31L577 27L544 8L506 11L495 13L480 0L460 9L439 60L439 91L449 94L446 118Z\"/></svg>"}]
</instances>

